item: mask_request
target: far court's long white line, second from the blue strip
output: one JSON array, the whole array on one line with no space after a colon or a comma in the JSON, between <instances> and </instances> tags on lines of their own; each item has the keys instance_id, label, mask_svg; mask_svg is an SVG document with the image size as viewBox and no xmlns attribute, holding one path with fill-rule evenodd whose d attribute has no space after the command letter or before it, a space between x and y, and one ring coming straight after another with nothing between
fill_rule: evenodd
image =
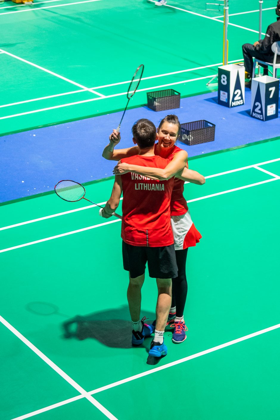
<instances>
[{"instance_id":1,"label":"far court's long white line, second from the blue strip","mask_svg":"<svg viewBox=\"0 0 280 420\"><path fill-rule=\"evenodd\" d=\"M58 1L58 0L50 0L50 1ZM59 0L59 1L61 1L61 0ZM9 6L9 7L12 7L12 6ZM3 53L0 53L0 54L3 54ZM240 58L239 60L228 61L228 63L236 63L236 62L239 62L239 61L243 61L243 58ZM188 68L186 70L173 71L171 73L157 74L156 76L142 77L141 80L155 79L157 77L170 76L170 75L173 75L173 74L185 73L185 72L188 72L188 71L201 70L201 69L204 69L204 68L216 67L216 66L222 66L222 63L209 64L208 66ZM135 80L139 80L139 79L135 79ZM120 81L120 82L117 82L117 83L105 84L105 85L97 86L97 87L90 87L89 89L101 89L101 88L104 88L104 87L118 86L118 85L121 85L121 84L130 83L130 82L131 82L131 80ZM86 92L86 91L87 91L87 89L79 89L79 90L73 90L71 92L58 93L56 95L42 96L40 98L28 99L28 100L25 100L25 101L12 102L10 104L0 105L0 108L5 108L5 107L8 107L8 106L13 106L13 105L25 104L25 103L28 103L28 102L40 101L40 100L44 100L44 99L55 98L55 97L58 97L58 96L72 95L74 93L80 93L80 92Z\"/></svg>"}]
</instances>

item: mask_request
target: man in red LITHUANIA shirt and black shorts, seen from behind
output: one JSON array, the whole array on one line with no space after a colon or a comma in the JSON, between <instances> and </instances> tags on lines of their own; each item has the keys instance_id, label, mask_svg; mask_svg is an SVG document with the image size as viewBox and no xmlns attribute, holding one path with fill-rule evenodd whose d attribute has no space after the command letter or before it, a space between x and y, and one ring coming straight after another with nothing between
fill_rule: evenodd
<instances>
[{"instance_id":1,"label":"man in red LITHUANIA shirt and black shorts, seen from behind","mask_svg":"<svg viewBox=\"0 0 280 420\"><path fill-rule=\"evenodd\" d=\"M165 168L168 160L154 155L157 130L147 119L140 119L132 127L133 143L139 155L126 157L121 162L154 168ZM128 172L116 175L113 191L102 217L109 218L117 209L123 192L123 268L129 271L127 291L132 321L132 344L140 345L154 332L149 354L160 357L167 354L163 333L171 305L171 279L177 276L173 232L170 223L170 199L174 178L160 181ZM149 276L157 280L158 298L155 331L152 325L140 321L141 287L146 263Z\"/></svg>"}]
</instances>

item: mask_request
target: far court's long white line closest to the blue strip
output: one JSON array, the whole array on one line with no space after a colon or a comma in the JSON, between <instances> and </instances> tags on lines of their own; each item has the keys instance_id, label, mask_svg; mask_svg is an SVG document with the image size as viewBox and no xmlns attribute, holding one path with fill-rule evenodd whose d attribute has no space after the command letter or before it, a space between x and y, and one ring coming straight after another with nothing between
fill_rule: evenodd
<instances>
[{"instance_id":1,"label":"far court's long white line closest to the blue strip","mask_svg":"<svg viewBox=\"0 0 280 420\"><path fill-rule=\"evenodd\" d=\"M144 91L147 91L147 90L158 89L160 87L166 87L166 86L173 86L175 84L188 83L188 82L196 81L196 80L210 79L213 76L215 76L215 75L210 74L210 76L197 77L196 79L188 79L188 80L178 81L178 82L174 82L174 83L162 84L160 86L147 87L145 89L137 89L137 92L144 92ZM98 95L101 95L101 94L98 94ZM21 115L34 114L34 113L37 113L37 112L48 111L48 110L57 109L57 108L64 108L66 106L79 105L79 104L83 104L83 103L86 103L86 102L93 102L93 101L100 100L100 99L113 98L113 97L123 96L123 95L127 95L127 92L115 93L114 95L107 95L107 96L102 95L102 97L99 97L99 98L85 99L83 101L76 101L76 102L71 102L71 103L63 104L63 105L55 105L55 106L51 106L51 107L47 107L47 108L36 109L34 111L27 111L27 112L21 112L21 113L13 114L13 115L6 115L5 117L0 117L0 120L5 120L6 118L19 117Z\"/></svg>"}]
</instances>

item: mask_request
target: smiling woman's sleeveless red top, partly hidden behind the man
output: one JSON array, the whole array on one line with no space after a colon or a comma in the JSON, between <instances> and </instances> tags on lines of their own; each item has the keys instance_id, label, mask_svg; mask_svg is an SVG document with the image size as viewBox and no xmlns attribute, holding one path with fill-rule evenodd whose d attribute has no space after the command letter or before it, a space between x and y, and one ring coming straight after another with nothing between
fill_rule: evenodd
<instances>
[{"instance_id":1,"label":"smiling woman's sleeveless red top, partly hidden behind the man","mask_svg":"<svg viewBox=\"0 0 280 420\"><path fill-rule=\"evenodd\" d=\"M174 155L178 152L181 152L181 150L182 149L180 149L179 147L174 146L174 148L170 152L170 155L168 155L166 159L168 159L169 161L172 160ZM154 145L154 154L158 155L157 144ZM174 186L173 186L173 191L172 191L171 201L170 201L171 216L181 216L187 213L188 211L188 205L183 196L184 184L185 182L182 179L178 179L178 178L174 179Z\"/></svg>"}]
</instances>

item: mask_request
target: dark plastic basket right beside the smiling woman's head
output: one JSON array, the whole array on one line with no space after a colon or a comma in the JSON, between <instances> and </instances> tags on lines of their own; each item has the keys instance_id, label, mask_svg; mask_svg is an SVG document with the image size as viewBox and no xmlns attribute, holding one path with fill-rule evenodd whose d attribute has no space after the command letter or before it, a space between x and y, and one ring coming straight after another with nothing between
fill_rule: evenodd
<instances>
[{"instance_id":1,"label":"dark plastic basket right beside the smiling woman's head","mask_svg":"<svg viewBox=\"0 0 280 420\"><path fill-rule=\"evenodd\" d=\"M213 142L214 140L215 124L209 123L209 121L199 120L181 124L180 141L188 146Z\"/></svg>"}]
</instances>

